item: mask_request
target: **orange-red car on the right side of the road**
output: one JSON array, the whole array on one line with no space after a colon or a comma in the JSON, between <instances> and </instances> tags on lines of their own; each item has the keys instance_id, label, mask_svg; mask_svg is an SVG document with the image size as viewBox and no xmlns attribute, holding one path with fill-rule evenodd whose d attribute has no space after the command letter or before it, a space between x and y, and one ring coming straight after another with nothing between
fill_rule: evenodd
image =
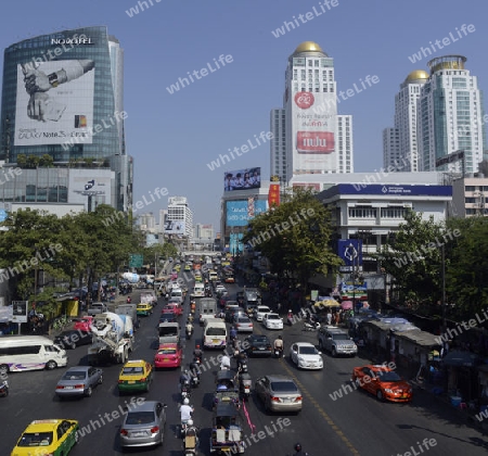
<instances>
[{"instance_id":1,"label":"orange-red car on the right side of the road","mask_svg":"<svg viewBox=\"0 0 488 456\"><path fill-rule=\"evenodd\" d=\"M355 367L352 382L374 394L380 401L410 402L412 387L386 365Z\"/></svg>"}]
</instances>

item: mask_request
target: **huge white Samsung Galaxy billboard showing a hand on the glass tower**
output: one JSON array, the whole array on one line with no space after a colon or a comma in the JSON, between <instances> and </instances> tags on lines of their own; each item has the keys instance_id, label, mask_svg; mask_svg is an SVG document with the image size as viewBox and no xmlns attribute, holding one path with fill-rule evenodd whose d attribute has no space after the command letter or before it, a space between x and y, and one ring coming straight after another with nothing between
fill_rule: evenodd
<instances>
[{"instance_id":1,"label":"huge white Samsung Galaxy billboard showing a hand on the glass tower","mask_svg":"<svg viewBox=\"0 0 488 456\"><path fill-rule=\"evenodd\" d=\"M17 65L14 145L92 143L94 61Z\"/></svg>"}]
</instances>

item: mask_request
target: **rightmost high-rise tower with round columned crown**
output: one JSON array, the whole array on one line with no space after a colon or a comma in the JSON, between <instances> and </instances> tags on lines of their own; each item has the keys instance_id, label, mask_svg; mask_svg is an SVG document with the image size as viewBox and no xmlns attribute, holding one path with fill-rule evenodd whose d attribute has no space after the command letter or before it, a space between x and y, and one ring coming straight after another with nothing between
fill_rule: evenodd
<instances>
[{"instance_id":1,"label":"rightmost high-rise tower with round columned crown","mask_svg":"<svg viewBox=\"0 0 488 456\"><path fill-rule=\"evenodd\" d=\"M428 62L431 75L419 99L418 138L421 170L477 173L485 145L483 94L478 79L471 76L462 55L445 55ZM454 152L461 161L436 162Z\"/></svg>"}]
</instances>

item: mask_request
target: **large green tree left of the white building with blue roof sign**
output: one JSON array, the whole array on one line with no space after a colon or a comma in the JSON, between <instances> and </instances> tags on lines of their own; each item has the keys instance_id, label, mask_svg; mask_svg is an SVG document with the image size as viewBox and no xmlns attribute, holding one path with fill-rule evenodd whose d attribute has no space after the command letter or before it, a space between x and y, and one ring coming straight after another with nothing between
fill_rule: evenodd
<instances>
[{"instance_id":1,"label":"large green tree left of the white building with blue roof sign","mask_svg":"<svg viewBox=\"0 0 488 456\"><path fill-rule=\"evenodd\" d=\"M310 277L342 264L331 249L332 232L329 211L310 190L298 189L287 202L254 218L243 242L260 251L273 273L297 278L306 292Z\"/></svg>"}]
</instances>

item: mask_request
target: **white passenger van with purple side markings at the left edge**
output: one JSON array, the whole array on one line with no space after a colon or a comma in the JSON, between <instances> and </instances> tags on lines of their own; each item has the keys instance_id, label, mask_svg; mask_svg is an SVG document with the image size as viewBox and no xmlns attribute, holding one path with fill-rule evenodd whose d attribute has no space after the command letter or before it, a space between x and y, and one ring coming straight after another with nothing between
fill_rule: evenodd
<instances>
[{"instance_id":1,"label":"white passenger van with purple side markings at the left edge","mask_svg":"<svg viewBox=\"0 0 488 456\"><path fill-rule=\"evenodd\" d=\"M0 338L0 376L67 365L66 351L42 335Z\"/></svg>"}]
</instances>

